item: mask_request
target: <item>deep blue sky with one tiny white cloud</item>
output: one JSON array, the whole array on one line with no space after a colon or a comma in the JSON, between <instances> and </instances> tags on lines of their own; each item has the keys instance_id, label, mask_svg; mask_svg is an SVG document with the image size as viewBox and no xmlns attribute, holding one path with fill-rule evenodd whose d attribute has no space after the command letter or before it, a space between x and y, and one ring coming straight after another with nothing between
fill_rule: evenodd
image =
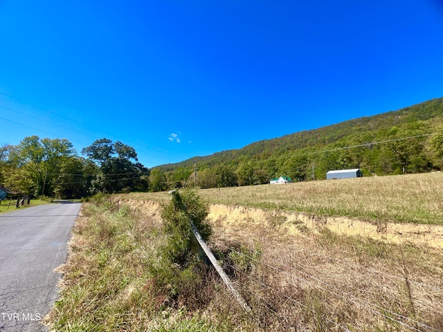
<instances>
[{"instance_id":1,"label":"deep blue sky with one tiny white cloud","mask_svg":"<svg viewBox=\"0 0 443 332\"><path fill-rule=\"evenodd\" d=\"M0 0L0 144L147 167L443 97L443 3Z\"/></svg>"}]
</instances>

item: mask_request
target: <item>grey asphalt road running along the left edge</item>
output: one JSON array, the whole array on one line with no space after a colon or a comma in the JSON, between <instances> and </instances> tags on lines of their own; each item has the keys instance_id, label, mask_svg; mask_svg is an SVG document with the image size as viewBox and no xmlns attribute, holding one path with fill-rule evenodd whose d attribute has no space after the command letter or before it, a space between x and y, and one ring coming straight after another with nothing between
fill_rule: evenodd
<instances>
[{"instance_id":1,"label":"grey asphalt road running along the left edge","mask_svg":"<svg viewBox=\"0 0 443 332\"><path fill-rule=\"evenodd\" d=\"M80 203L0 214L0 331L47 331L40 321L58 297L53 272L66 262Z\"/></svg>"}]
</instances>

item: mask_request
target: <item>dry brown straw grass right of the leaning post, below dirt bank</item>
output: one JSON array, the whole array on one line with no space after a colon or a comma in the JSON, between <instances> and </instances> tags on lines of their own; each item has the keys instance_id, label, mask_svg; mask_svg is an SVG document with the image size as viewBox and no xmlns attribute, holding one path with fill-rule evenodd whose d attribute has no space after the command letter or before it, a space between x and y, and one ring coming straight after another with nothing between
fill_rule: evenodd
<instances>
[{"instance_id":1,"label":"dry brown straw grass right of the leaning post, below dirt bank","mask_svg":"<svg viewBox=\"0 0 443 332\"><path fill-rule=\"evenodd\" d=\"M255 210L235 214L213 219L214 244L260 250L241 286L263 331L443 329L441 250L337 235L327 225L289 234L283 215L253 222Z\"/></svg>"}]
</instances>

